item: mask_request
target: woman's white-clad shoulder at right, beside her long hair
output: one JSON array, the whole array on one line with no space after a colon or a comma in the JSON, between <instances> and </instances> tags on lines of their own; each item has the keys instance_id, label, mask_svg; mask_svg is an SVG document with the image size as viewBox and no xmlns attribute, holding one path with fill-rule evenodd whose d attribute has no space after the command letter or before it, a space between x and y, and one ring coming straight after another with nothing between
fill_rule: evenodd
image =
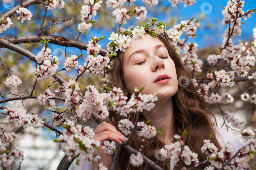
<instances>
[{"instance_id":1,"label":"woman's white-clad shoulder at right, beside her long hair","mask_svg":"<svg viewBox=\"0 0 256 170\"><path fill-rule=\"evenodd\" d=\"M233 134L222 129L221 127L213 127L215 128L216 138L222 147L224 147L225 143L230 143L234 147L234 153L237 152L237 150L239 150L239 146L242 143Z\"/></svg>"}]
</instances>

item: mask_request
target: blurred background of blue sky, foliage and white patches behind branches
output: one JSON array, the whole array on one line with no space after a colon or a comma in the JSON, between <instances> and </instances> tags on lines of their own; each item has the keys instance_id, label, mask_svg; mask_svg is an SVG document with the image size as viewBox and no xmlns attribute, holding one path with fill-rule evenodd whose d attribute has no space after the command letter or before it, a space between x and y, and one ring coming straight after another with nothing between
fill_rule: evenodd
<instances>
[{"instance_id":1,"label":"blurred background of blue sky, foliage and white patches behind branches","mask_svg":"<svg viewBox=\"0 0 256 170\"><path fill-rule=\"evenodd\" d=\"M47 2L47 1L45 1ZM52 20L54 19L56 22L69 19L73 17L72 20L55 25L47 30L44 35L58 35L68 37L70 39L75 39L76 36L79 34L77 30L77 25L81 22L81 14L80 9L83 4L83 1L70 1L65 0L64 9L54 9L48 10L46 14L46 20L44 23L44 27L51 25ZM103 1L105 2L105 0ZM11 0L11 3L4 4L0 3L0 15L7 12L9 9L12 9L14 6L18 5L20 1ZM184 7L183 4L179 3L180 8L178 7L171 7L171 3L168 0L160 0L158 4L150 7L142 1L137 0L134 3L129 5L128 10L134 10L135 6L145 6L147 9L147 18L145 20L136 20L136 15L133 14L131 18L127 21L127 24L122 25L122 28L129 29L136 25L145 25L147 22L151 23L151 19L157 18L159 22L163 22L166 24L167 29L170 27L179 24L181 20L187 20L194 17L194 20L199 19L200 26L196 34L198 35L194 39L189 38L188 42L198 43L198 50L197 55L199 59L202 59L204 65L202 66L202 72L198 73L195 77L200 77L204 74L204 72L209 68L207 64L207 57L210 54L219 54L220 46L222 45L222 34L224 33L227 25L222 25L222 6L225 7L227 4L226 0L196 0L196 3L193 6ZM125 7L128 3L125 3ZM245 0L245 6L243 10L246 12L247 10L256 8L256 1L255 0ZM28 35L36 35L39 31L41 21L45 12L45 5L42 4L34 4L29 6L28 8L32 14L32 20L26 20L24 23L21 23L20 20L17 20L17 16L12 16L11 20L13 24L7 31L4 31L0 37L15 37L15 36L28 36ZM101 8L97 11L97 15L92 18L92 20L97 20L97 22L92 24L92 28L85 33L82 33L79 37L79 41L83 43L88 43L92 36L99 37L99 34L102 36L106 35L107 38L101 40L99 44L101 48L107 48L106 45L109 43L108 37L111 32L115 32L119 27L118 23L115 23L112 16L112 10L107 9L107 5L105 3L101 4ZM157 21L157 22L158 22ZM242 19L241 22L244 22ZM236 37L233 39L234 44L238 44L239 40L243 42L248 42L250 44L253 41L253 28L256 26L256 15L253 14L251 18L247 19L242 26L241 36ZM54 33L53 33L54 32ZM185 34L185 33L184 33ZM185 38L186 35L182 35L182 38ZM39 53L41 48L43 47L43 43L21 43L19 44L20 47L25 48L31 51L33 54ZM48 47L52 49L52 55L55 55L59 58L59 68L63 67L63 63L65 62L65 48L62 46L58 46L55 44L51 44L49 42ZM82 50L83 59L85 60L87 57L86 50ZM78 48L68 47L66 49L66 57L70 57L70 55L79 55L81 54L81 50ZM19 87L19 89L10 90L11 93L18 94L18 95L28 95L30 94L33 84L36 79L36 66L33 61L28 60L26 57L22 56L21 54L17 54L13 51L10 51L6 48L0 48L0 56L3 59L4 64L7 67L11 67L13 71L12 74L19 76L22 80L23 87ZM79 64L82 65L84 61L82 58L79 60ZM85 61L86 62L86 61ZM248 75L254 72L252 69ZM65 80L74 79L77 75L75 70L70 72L61 72L61 76L65 78ZM2 68L0 73L0 89L4 88L4 81L6 80L7 75L6 71ZM48 86L53 81L53 77L50 77L46 80L40 80L36 84L36 89L34 90L34 95L40 95L45 92ZM87 74L83 74L83 76L79 79L79 87L80 92L82 94L85 93L87 85L91 84L94 85L99 92L101 92L101 77L94 77ZM198 86L199 87L199 86ZM197 87L197 88L198 88ZM241 91L245 92L249 88L248 82L239 82L239 87ZM51 87L50 90L53 92L55 89L58 88L58 83L55 82ZM235 101L234 103L228 105L221 105L222 110L229 110L231 113L235 115L235 118L244 122L242 125L241 130L253 129L256 125L256 113L255 113L255 105L250 102L243 102L239 99L240 91L238 87L235 85L233 88L219 88L216 87L212 90L214 93L230 93ZM6 88L4 88L2 93L9 93ZM249 91L250 94L255 93L255 89L252 88ZM7 94L4 97L12 97L13 95ZM65 97L64 93L61 94L59 97ZM3 99L3 97L1 97ZM25 108L30 113L38 114L41 119L46 118L45 122L49 122L52 124L52 112L48 110L46 107L48 105L39 105L36 99L26 99L23 101ZM2 106L10 106L10 107L17 107L24 109L24 106L21 103L21 100L11 101L8 103L1 104ZM57 111L64 110L63 103L58 103ZM223 123L222 115L220 114L219 108L216 104L209 104L210 110L215 113L217 120L219 122L219 126ZM69 117L69 115L67 115ZM85 122L84 125L88 125L93 120L89 120ZM16 148L24 151L24 160L22 161L22 169L26 170L54 170L57 168L60 160L65 155L65 153L60 150L60 145L54 143L52 140L56 139L56 134L46 127L41 128L34 128L27 127L22 128L19 125L14 123L9 123L6 119L5 115L0 114L0 124L3 127L5 132L12 132L18 133L20 140L15 142ZM94 122L90 124L91 127L96 127L97 124ZM63 129L56 127L58 130L63 131ZM225 126L222 127L226 129ZM238 130L238 129L236 129ZM229 129L229 132L235 135L241 142L244 140L239 138L240 133L236 130ZM21 160L15 160L13 164L13 168L18 166ZM252 160L250 163L253 169L256 169L255 166L256 159ZM75 162L73 162L70 169L73 169Z\"/></svg>"}]
</instances>

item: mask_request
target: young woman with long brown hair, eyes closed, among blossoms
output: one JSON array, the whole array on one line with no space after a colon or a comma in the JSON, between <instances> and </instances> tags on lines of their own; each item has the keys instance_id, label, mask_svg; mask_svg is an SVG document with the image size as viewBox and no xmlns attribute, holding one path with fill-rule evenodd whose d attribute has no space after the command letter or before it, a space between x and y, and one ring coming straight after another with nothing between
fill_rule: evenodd
<instances>
[{"instance_id":1,"label":"young woman with long brown hair, eyes closed, among blossoms","mask_svg":"<svg viewBox=\"0 0 256 170\"><path fill-rule=\"evenodd\" d=\"M155 102L155 107L152 110L143 110L139 113L139 122L151 119L149 124L156 129L162 128L163 135L157 134L151 139L133 135L129 145L152 161L157 161L156 151L163 148L165 144L174 142L174 134L181 135L186 129L188 133L184 142L192 152L198 153L200 162L207 158L206 154L202 153L201 147L203 140L209 139L210 133L212 133L212 142L218 151L222 149L223 143L229 142L234 146L236 152L241 142L226 130L214 126L217 124L216 118L207 109L204 99L197 93L191 81L191 72L182 63L175 47L163 34L152 37L148 30L145 31L144 37L132 37L130 46L126 48L125 52L118 51L117 56L113 57L112 88L121 88L128 97L127 101L133 93L133 88L139 89L143 85L146 86L141 91L142 94L161 93L160 102ZM159 80L159 76L168 80L156 82ZM179 85L178 78L180 76L186 76L190 80L186 88ZM113 110L109 110L109 112L110 123L103 122L97 126L94 130L94 139L101 142L107 139L115 141L117 154L107 155L100 149L101 159L99 162L110 170L125 170L130 155L119 146L126 140L118 128L118 121L125 117L115 114ZM127 118L133 123L136 122L136 116L133 113L130 113ZM158 161L157 164L163 169L170 169L168 159ZM80 161L80 165L76 165L74 170L91 170L96 169L97 166L98 162ZM187 167L185 164L180 164L180 166ZM206 166L209 164L205 163L198 168L204 169ZM129 165L129 169L143 170L144 167L144 163L139 167ZM153 168L147 167L147 169Z\"/></svg>"}]
</instances>

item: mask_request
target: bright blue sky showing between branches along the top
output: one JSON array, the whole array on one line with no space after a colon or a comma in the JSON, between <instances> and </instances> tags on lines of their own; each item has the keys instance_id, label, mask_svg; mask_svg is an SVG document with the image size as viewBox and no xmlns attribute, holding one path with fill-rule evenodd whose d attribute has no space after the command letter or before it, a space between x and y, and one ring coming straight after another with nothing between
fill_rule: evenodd
<instances>
[{"instance_id":1,"label":"bright blue sky showing between branches along the top","mask_svg":"<svg viewBox=\"0 0 256 170\"><path fill-rule=\"evenodd\" d=\"M105 2L105 1L104 1ZM138 6L145 6L148 10L148 14L147 16L150 18L157 18L159 22L164 22L166 21L166 16L172 16L174 18L177 19L176 24L179 24L181 20L186 20L186 19L191 19L192 17L194 17L194 20L199 19L199 23L200 23L200 27L197 30L197 35L198 37L195 37L194 39L189 38L188 41L189 42L195 42L198 43L198 48L205 48L205 47L215 47L218 46L222 43L223 37L222 34L224 33L225 29L227 28L227 25L222 25L222 6L225 7L227 4L226 0L196 0L196 3L192 6L187 6L184 7L182 3L180 4L180 9L178 7L171 7L171 9L167 12L161 12L158 11L159 10L159 6L170 6L171 3L168 0L161 0L158 1L158 4L153 6L152 8L150 8L148 5L145 5L145 3L142 3L141 0L137 0L134 2L136 5ZM205 4L208 3L207 6L205 6ZM15 1L15 5L17 4L17 2ZM128 3L125 3L125 7L127 6ZM205 7L204 7L205 6ZM204 7L204 8L202 8ZM243 8L243 10L246 12L248 9L254 9L256 8L256 1L255 0L246 0L245 1L245 6ZM36 13L37 11L34 11L33 6L30 6L29 9L32 11L32 14ZM209 14L204 14L202 11L206 11ZM0 7L0 11L3 14L4 12L7 11L7 9L5 9L3 6ZM45 9L40 11L40 14L44 14ZM51 10L48 10L47 15L51 15ZM33 19L33 17L32 17ZM57 16L56 20L61 20L61 16ZM98 16L93 17L93 20L97 20ZM127 24L126 25L122 25L122 27L128 27L129 25L135 25L134 23L137 20L135 18L133 18L132 20L127 20ZM241 20L242 22L244 22L244 20ZM26 24L25 21L23 24ZM38 21L40 24L40 20ZM100 22L100 20L98 20L98 22ZM148 20L147 22L151 22L150 20ZM76 29L78 23L76 23L75 25L73 25L73 27L70 29L66 29L65 33L61 33L61 34L57 34L59 36L65 36L65 37L69 37L71 39L74 39L77 35L78 35L78 30ZM93 25L93 24L92 24ZM13 26L13 25L12 25ZM115 27L113 28L113 32L115 32L115 30L118 28L119 24L115 23ZM248 41L248 40L252 40L252 30L253 28L256 26L256 15L253 14L252 17L250 19L247 19L245 21L244 24L242 24L242 32L241 32L241 36L240 37L236 37L233 40L233 43L238 43L238 40L242 40L242 41ZM169 29L170 26L167 25L167 29ZM15 34L15 31L17 31L15 28L13 28L13 30L9 29L8 31L11 32L11 34ZM72 32L73 31L73 32ZM105 39L101 40L99 43L101 44L102 48L106 48L107 43L109 42L108 37L109 34L112 32L109 30L106 30L104 28L99 28L99 29L95 29L94 27L91 28L91 30L89 30L88 34L82 34L79 38L79 41L82 41L84 43L88 43L88 41L91 39L92 36L99 36L99 34L101 34L101 36L103 35L107 35ZM34 34L36 34L37 32L34 32ZM185 34L185 33L184 33ZM184 36L184 34L182 35L182 37ZM2 35L0 35L2 36ZM72 37L73 36L73 37ZM49 44L49 47L54 49L54 48L62 48L65 49L64 47L60 47L54 44ZM34 49L33 52L36 54L38 53L38 50L40 49ZM52 50L53 51L53 50ZM73 53L76 55L79 55L81 52L79 49L77 48L72 48L69 47L67 49L67 52L69 53ZM84 50L83 53L86 53L86 51ZM69 54L72 55L72 54Z\"/></svg>"}]
</instances>

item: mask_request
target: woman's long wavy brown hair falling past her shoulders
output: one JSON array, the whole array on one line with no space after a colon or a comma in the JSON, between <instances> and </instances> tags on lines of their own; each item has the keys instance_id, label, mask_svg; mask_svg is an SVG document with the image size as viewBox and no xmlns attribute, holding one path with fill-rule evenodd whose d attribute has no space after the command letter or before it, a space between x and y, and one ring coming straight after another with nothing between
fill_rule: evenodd
<instances>
[{"instance_id":1,"label":"woman's long wavy brown hair falling past her shoulders","mask_svg":"<svg viewBox=\"0 0 256 170\"><path fill-rule=\"evenodd\" d=\"M146 34L149 34L149 30L145 29L145 31ZM176 53L175 46L171 44L170 41L166 39L162 34L157 35L155 38L159 38L162 43L167 47L169 56L174 61L176 67L177 78L180 76L186 76L189 79L189 85L186 88L179 86L177 93L172 96L172 101L174 105L174 134L181 135L186 129L186 132L188 133L184 138L184 143L190 147L192 152L198 154L198 160L200 162L205 161L207 156L205 153L202 153L201 147L203 146L203 140L209 139L210 133L212 133L211 140L218 148L218 151L222 149L216 139L214 127L212 124L212 120L214 120L215 124L217 125L216 118L214 114L208 110L205 100L197 93L197 90L191 80L191 71L181 61L180 56ZM127 87L124 82L123 76L123 52L118 51L117 56L113 57L112 60L113 69L110 71L112 75L112 88L119 87L123 91L125 91ZM130 95L131 94L128 94L127 101L129 101ZM115 114L114 110L109 110L109 122L113 122L114 126L117 128L118 131L120 131L120 129L118 128L118 121L124 118L126 117ZM136 115L134 113L129 113L127 118L133 124L135 124ZM148 120L140 112L139 122L141 121L146 122ZM127 137L129 137L129 135ZM144 139L145 142L140 142L142 141L142 139ZM156 136L151 139L146 139L143 136L133 135L131 140L129 141L129 145L137 150L141 148L141 145L144 145L141 153L155 162L157 161L155 157L155 152L163 148L165 143ZM130 154L124 148L121 148L117 153L117 160L115 160L114 165L115 169L127 169L129 158ZM169 159L165 159L163 161L158 161L157 164L163 169L167 170L170 169L169 162ZM139 167L133 167L130 164L129 169L143 170L145 166L145 163L143 163L143 166ZM187 165L185 165L184 162L180 161L179 167L183 166L188 167ZM209 166L209 162L204 163L198 168L204 169L204 167L206 166ZM153 170L152 167L148 167L147 169Z\"/></svg>"}]
</instances>

